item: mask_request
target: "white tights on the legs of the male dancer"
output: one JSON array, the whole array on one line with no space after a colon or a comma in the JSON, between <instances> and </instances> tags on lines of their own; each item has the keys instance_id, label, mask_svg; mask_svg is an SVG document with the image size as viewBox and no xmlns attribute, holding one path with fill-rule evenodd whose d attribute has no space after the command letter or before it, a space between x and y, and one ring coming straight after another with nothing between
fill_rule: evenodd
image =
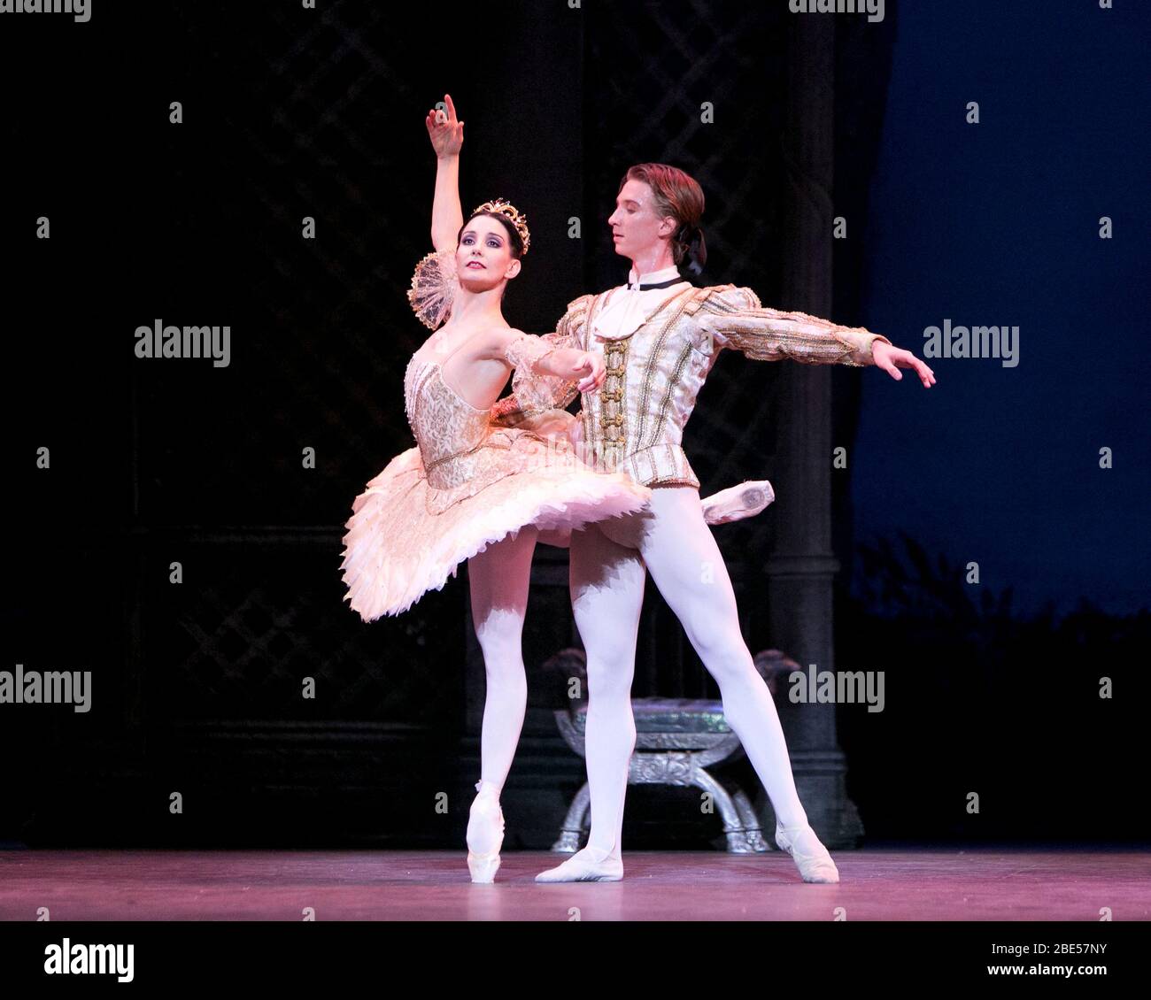
<instances>
[{"instance_id":1,"label":"white tights on the legs of the male dancer","mask_svg":"<svg viewBox=\"0 0 1151 1000\"><path fill-rule=\"evenodd\" d=\"M572 533L572 610L587 651L588 848L619 857L627 765L635 748L631 688L645 564L719 685L724 716L777 822L805 825L779 716L740 633L731 578L703 520L699 491L657 487L647 510Z\"/></svg>"}]
</instances>

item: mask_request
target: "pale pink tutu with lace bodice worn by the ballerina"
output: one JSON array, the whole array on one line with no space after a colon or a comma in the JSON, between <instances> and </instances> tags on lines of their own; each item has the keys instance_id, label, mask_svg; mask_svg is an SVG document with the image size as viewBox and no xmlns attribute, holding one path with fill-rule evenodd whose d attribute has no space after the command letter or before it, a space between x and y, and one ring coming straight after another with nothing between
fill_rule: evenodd
<instances>
[{"instance_id":1,"label":"pale pink tutu with lace bodice worn by the ballerina","mask_svg":"<svg viewBox=\"0 0 1151 1000\"><path fill-rule=\"evenodd\" d=\"M569 413L497 426L490 411L444 383L435 361L409 365L405 391L420 444L368 482L345 524L344 600L365 621L406 611L442 589L464 559L526 525L542 541L566 544L572 530L641 510L650 498L624 473L579 460Z\"/></svg>"}]
</instances>

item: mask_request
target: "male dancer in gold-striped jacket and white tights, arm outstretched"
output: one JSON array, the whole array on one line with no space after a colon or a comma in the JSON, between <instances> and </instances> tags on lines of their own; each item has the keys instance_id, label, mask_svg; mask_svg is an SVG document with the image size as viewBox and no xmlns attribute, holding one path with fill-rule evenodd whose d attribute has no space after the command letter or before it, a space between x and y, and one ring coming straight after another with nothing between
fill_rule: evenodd
<instances>
[{"instance_id":1,"label":"male dancer in gold-striped jacket and white tights, arm outstretched","mask_svg":"<svg viewBox=\"0 0 1151 1000\"><path fill-rule=\"evenodd\" d=\"M808 825L775 702L740 634L731 580L680 445L683 429L723 348L764 360L875 365L897 380L899 368L914 368L924 387L935 384L935 375L878 334L763 308L747 288L692 287L678 265L702 268L702 213L703 192L683 170L663 163L628 169L608 219L616 253L632 261L627 285L576 299L548 335L604 354L607 377L581 400L585 460L626 471L653 489L647 510L572 534L572 610L587 652L592 831L587 847L536 881L623 878L619 841L635 747L631 687L646 572L719 686L724 716L771 800L776 842L805 881L839 881L831 855ZM552 398L541 399L525 387L502 400L495 415L514 422L576 396L570 384L555 388Z\"/></svg>"}]
</instances>

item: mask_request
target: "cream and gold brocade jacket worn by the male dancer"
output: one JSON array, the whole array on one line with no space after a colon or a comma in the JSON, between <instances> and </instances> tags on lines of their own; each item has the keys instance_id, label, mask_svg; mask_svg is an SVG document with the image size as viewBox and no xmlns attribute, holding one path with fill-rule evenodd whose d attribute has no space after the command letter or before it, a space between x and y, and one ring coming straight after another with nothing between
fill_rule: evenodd
<instances>
[{"instance_id":1,"label":"cream and gold brocade jacket worn by the male dancer","mask_svg":"<svg viewBox=\"0 0 1151 1000\"><path fill-rule=\"evenodd\" d=\"M748 358L791 358L809 365L872 364L871 345L886 337L841 327L805 313L764 308L749 288L670 288L647 321L630 334L596 331L593 320L607 292L580 296L555 333L543 339L561 348L602 350L607 377L584 394L579 415L584 459L605 472L626 472L643 486L699 480L684 453L684 426L708 372L724 348ZM493 419L514 426L576 398L576 383L516 369L512 395Z\"/></svg>"}]
</instances>

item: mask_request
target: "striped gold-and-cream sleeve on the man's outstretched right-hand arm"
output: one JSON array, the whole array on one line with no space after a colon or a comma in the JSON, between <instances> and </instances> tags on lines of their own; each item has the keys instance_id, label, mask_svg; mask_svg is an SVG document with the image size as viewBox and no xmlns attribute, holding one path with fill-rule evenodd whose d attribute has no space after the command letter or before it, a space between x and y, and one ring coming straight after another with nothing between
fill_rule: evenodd
<instances>
[{"instance_id":1,"label":"striped gold-and-cream sleeve on the man's outstretched right-hand arm","mask_svg":"<svg viewBox=\"0 0 1151 1000\"><path fill-rule=\"evenodd\" d=\"M764 308L749 288L718 285L700 306L698 320L721 348L748 358L778 361L791 358L805 365L874 364L871 345L890 344L882 334L860 327L841 327L807 313Z\"/></svg>"}]
</instances>

